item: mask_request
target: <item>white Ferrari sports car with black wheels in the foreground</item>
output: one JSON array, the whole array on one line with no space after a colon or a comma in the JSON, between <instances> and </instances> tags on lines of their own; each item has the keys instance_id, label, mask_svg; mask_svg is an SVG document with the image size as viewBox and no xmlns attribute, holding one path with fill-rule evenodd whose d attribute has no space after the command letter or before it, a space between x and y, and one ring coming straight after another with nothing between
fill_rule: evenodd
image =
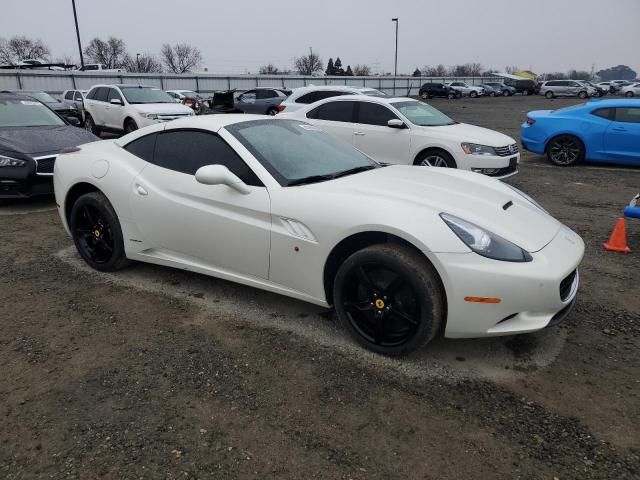
<instances>
[{"instance_id":1,"label":"white Ferrari sports car with black wheels in the foreground","mask_svg":"<svg viewBox=\"0 0 640 480\"><path fill-rule=\"evenodd\" d=\"M584 244L525 194L381 166L297 120L191 117L58 157L60 218L98 270L129 260L334 305L363 346L532 332L571 309Z\"/></svg>"}]
</instances>

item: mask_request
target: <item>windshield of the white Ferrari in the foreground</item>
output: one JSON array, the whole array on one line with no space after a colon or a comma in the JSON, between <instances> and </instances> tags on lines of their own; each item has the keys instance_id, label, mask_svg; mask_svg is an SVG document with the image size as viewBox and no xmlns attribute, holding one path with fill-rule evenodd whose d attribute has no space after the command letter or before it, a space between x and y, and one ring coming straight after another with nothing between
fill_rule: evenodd
<instances>
[{"instance_id":1,"label":"windshield of the white Ferrari in the foreground","mask_svg":"<svg viewBox=\"0 0 640 480\"><path fill-rule=\"evenodd\" d=\"M296 120L252 120L225 128L280 185L331 180L380 166L350 144Z\"/></svg>"}]
</instances>

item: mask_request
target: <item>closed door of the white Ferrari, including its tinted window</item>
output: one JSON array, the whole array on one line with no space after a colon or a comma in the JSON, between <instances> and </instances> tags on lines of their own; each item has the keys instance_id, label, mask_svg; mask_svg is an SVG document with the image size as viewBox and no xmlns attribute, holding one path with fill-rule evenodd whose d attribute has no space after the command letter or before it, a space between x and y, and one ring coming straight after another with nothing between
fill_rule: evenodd
<instances>
[{"instance_id":1,"label":"closed door of the white Ferrari, including its tinted window","mask_svg":"<svg viewBox=\"0 0 640 480\"><path fill-rule=\"evenodd\" d=\"M145 242L167 258L268 278L266 187L216 134L171 129L152 135L157 136L153 161L135 178L131 192L133 217ZM250 192L197 182L198 168L214 164L229 168Z\"/></svg>"}]
</instances>

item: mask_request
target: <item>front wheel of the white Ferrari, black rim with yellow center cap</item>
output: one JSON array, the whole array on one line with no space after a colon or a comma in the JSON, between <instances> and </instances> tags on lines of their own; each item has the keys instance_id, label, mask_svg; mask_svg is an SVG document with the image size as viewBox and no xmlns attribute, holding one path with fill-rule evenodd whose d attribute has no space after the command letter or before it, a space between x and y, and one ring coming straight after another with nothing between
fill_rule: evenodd
<instances>
[{"instance_id":1,"label":"front wheel of the white Ferrari, black rim with yellow center cap","mask_svg":"<svg viewBox=\"0 0 640 480\"><path fill-rule=\"evenodd\" d=\"M383 355L417 350L444 322L440 277L404 245L372 245L352 254L338 269L333 298L342 327L357 343Z\"/></svg>"}]
</instances>

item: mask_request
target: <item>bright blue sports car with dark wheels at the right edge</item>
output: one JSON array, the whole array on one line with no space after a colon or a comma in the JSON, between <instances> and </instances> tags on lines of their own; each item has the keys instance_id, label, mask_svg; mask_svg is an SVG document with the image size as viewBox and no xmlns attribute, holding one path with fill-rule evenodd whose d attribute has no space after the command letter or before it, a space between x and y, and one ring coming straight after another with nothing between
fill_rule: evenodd
<instances>
[{"instance_id":1,"label":"bright blue sports car with dark wheels at the right edge","mask_svg":"<svg viewBox=\"0 0 640 480\"><path fill-rule=\"evenodd\" d=\"M640 165L640 99L529 112L520 140L526 150L560 166L583 160Z\"/></svg>"}]
</instances>

